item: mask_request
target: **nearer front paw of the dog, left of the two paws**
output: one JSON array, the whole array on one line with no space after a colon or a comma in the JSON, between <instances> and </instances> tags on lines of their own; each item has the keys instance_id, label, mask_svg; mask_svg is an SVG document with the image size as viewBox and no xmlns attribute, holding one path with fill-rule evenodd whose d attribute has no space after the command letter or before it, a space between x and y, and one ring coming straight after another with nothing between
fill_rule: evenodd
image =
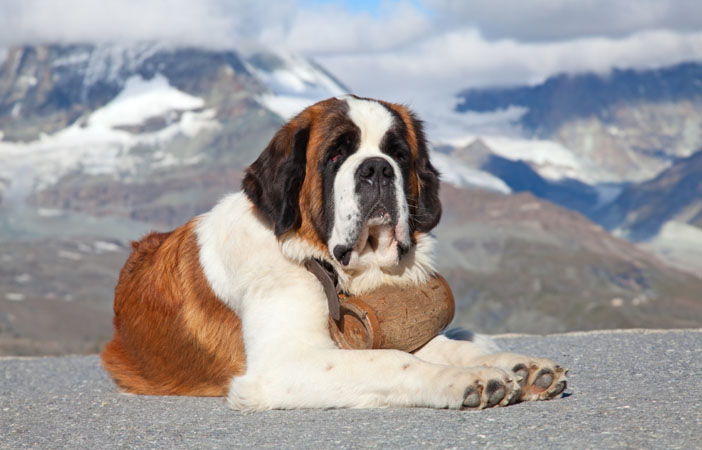
<instances>
[{"instance_id":1,"label":"nearer front paw of the dog, left of the two paws","mask_svg":"<svg viewBox=\"0 0 702 450\"><path fill-rule=\"evenodd\" d=\"M473 381L463 391L461 409L483 409L515 403L520 395L516 375L496 367L466 369Z\"/></svg>"}]
</instances>

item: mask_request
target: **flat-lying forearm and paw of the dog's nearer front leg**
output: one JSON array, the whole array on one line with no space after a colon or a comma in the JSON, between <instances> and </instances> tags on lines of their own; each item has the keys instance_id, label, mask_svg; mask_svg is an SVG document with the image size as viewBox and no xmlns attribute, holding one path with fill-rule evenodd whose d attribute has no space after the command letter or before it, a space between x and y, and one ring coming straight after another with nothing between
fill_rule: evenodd
<instances>
[{"instance_id":1,"label":"flat-lying forearm and paw of the dog's nearer front leg","mask_svg":"<svg viewBox=\"0 0 702 450\"><path fill-rule=\"evenodd\" d=\"M427 363L397 350L288 348L232 381L235 409L433 407L514 403L516 376L493 367Z\"/></svg>"}]
</instances>

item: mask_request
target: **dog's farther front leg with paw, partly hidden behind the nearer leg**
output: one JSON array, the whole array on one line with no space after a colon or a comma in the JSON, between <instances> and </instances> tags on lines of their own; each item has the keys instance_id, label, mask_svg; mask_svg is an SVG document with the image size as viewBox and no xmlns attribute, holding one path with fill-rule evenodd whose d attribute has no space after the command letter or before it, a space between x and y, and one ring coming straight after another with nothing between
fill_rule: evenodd
<instances>
[{"instance_id":1,"label":"dog's farther front leg with paw, partly hidden behind the nearer leg","mask_svg":"<svg viewBox=\"0 0 702 450\"><path fill-rule=\"evenodd\" d=\"M546 358L516 353L493 353L479 342L460 341L439 335L414 355L435 364L457 367L489 366L513 372L521 387L519 400L547 400L566 388L567 370Z\"/></svg>"}]
</instances>

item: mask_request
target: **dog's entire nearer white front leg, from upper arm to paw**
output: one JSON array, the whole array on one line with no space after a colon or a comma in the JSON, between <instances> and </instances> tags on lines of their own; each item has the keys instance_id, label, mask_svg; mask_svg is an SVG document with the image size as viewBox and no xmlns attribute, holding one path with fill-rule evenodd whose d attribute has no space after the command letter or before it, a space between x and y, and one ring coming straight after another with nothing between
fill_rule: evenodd
<instances>
[{"instance_id":1,"label":"dog's entire nearer white front leg, from upper arm to paw","mask_svg":"<svg viewBox=\"0 0 702 450\"><path fill-rule=\"evenodd\" d=\"M246 373L232 380L240 410L343 407L485 408L516 401L516 376L494 367L432 364L398 350L341 350L312 275L268 289L240 314ZM308 284L309 283L309 284Z\"/></svg>"}]
</instances>

